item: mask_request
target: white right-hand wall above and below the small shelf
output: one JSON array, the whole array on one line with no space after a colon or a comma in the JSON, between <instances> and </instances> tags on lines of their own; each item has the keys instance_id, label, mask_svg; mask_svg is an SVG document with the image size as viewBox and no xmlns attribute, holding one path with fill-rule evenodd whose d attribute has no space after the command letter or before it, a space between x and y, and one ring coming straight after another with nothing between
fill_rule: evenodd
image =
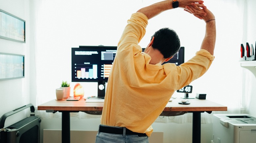
<instances>
[{"instance_id":1,"label":"white right-hand wall above and below the small shelf","mask_svg":"<svg viewBox=\"0 0 256 143\"><path fill-rule=\"evenodd\" d=\"M255 48L256 45L255 39L256 39L256 28L255 28L255 6L256 1L254 0L247 0L246 5L244 6L247 13L245 13L246 19L244 21L246 22L244 24L244 29L246 33L244 34L243 43L245 45L246 42L253 44L253 47ZM242 91L242 98L241 98L241 105L244 109L242 112L246 114L250 114L252 116L256 116L255 111L255 85L256 85L256 70L255 67L247 67L243 68L242 71L242 82L241 86L244 89Z\"/></svg>"}]
</instances>

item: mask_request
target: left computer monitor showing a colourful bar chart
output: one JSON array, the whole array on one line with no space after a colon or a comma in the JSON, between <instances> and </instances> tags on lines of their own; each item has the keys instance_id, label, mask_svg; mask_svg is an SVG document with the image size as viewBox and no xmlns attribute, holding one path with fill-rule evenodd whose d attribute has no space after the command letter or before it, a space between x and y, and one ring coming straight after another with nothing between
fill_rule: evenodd
<instances>
[{"instance_id":1,"label":"left computer monitor showing a colourful bar chart","mask_svg":"<svg viewBox=\"0 0 256 143\"><path fill-rule=\"evenodd\" d=\"M79 46L71 53L72 82L97 82L98 97L104 97L117 46Z\"/></svg>"}]
</instances>

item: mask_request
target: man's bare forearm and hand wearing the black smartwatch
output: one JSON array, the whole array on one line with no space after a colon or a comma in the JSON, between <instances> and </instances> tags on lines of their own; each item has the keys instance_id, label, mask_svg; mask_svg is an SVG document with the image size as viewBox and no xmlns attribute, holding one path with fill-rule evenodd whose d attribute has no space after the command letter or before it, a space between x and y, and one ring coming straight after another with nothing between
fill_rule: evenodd
<instances>
[{"instance_id":1,"label":"man's bare forearm and hand wearing the black smartwatch","mask_svg":"<svg viewBox=\"0 0 256 143\"><path fill-rule=\"evenodd\" d=\"M202 0L178 0L178 1L179 1L179 8L185 8L186 6L190 7L191 3L198 3L198 2L203 3ZM148 17L148 19L151 19L165 10L172 9L173 8L172 3L173 3L173 0L161 1L153 5L150 5L148 7L141 8L137 12L141 12L145 14ZM206 15L206 13L202 10L195 10L193 12L199 15Z\"/></svg>"}]
</instances>

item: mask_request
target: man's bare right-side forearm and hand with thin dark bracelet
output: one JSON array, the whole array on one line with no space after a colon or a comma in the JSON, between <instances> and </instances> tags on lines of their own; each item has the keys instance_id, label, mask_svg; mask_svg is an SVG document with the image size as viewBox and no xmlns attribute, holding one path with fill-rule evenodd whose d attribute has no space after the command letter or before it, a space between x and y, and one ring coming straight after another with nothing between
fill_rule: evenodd
<instances>
[{"instance_id":1,"label":"man's bare right-side forearm and hand with thin dark bracelet","mask_svg":"<svg viewBox=\"0 0 256 143\"><path fill-rule=\"evenodd\" d=\"M199 3L201 4L201 3ZM213 55L214 53L214 48L215 48L215 42L216 42L216 23L215 23L215 16L213 15L213 13L208 10L207 8L202 8L202 4L199 6L199 4L194 4L191 3L191 5L193 6L192 8L186 6L185 9L186 11L192 13L193 15L195 15L196 17L198 17L198 14L195 14L191 11L195 11L195 10L202 10L206 13L206 15L200 15L200 17L198 18L202 18L204 20L204 22L206 23L206 27L205 27L205 36L201 45L201 49L205 49L207 50L211 55ZM201 7L201 8L200 8Z\"/></svg>"}]
</instances>

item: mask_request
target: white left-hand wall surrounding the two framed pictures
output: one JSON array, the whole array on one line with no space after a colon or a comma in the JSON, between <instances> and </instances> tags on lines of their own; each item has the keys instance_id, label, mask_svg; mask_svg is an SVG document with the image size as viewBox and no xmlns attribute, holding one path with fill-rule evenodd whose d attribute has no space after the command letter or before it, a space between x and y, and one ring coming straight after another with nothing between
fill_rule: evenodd
<instances>
[{"instance_id":1,"label":"white left-hand wall surrounding the two framed pictures","mask_svg":"<svg viewBox=\"0 0 256 143\"><path fill-rule=\"evenodd\" d=\"M0 9L26 21L26 43L0 39L0 52L25 55L25 78L0 81L0 116L30 103L30 17L29 0L0 0ZM26 115L21 114L6 126L20 120Z\"/></svg>"}]
</instances>

